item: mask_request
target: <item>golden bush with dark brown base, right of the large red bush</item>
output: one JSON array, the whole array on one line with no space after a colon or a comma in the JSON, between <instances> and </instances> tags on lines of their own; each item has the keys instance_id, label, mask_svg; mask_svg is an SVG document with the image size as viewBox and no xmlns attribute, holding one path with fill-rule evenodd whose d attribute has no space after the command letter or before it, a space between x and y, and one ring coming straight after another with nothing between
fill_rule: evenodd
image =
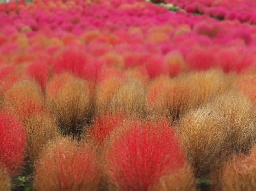
<instances>
[{"instance_id":1,"label":"golden bush with dark brown base, right of the large red bush","mask_svg":"<svg viewBox=\"0 0 256 191\"><path fill-rule=\"evenodd\" d=\"M226 155L226 131L209 107L184 115L178 131L195 176L204 176ZM224 156L223 156L224 155Z\"/></svg>"}]
</instances>

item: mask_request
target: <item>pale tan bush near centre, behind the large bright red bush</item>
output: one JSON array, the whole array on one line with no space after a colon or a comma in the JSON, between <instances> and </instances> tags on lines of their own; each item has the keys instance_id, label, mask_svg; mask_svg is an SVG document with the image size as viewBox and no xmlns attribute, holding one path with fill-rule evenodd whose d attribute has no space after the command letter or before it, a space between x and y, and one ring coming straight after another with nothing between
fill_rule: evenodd
<instances>
[{"instance_id":1,"label":"pale tan bush near centre, behind the large bright red bush","mask_svg":"<svg viewBox=\"0 0 256 191\"><path fill-rule=\"evenodd\" d=\"M113 112L142 116L145 114L145 108L145 88L135 80L122 85L111 100L111 110Z\"/></svg>"}]
</instances>

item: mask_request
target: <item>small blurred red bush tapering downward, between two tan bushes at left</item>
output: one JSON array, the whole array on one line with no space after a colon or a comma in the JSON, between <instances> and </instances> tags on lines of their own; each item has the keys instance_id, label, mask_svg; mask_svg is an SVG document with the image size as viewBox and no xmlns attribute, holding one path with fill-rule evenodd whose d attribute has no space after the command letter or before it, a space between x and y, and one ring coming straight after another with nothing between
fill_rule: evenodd
<instances>
[{"instance_id":1,"label":"small blurred red bush tapering downward, between two tan bushes at left","mask_svg":"<svg viewBox=\"0 0 256 191\"><path fill-rule=\"evenodd\" d=\"M41 85L44 89L49 76L48 65L43 63L32 63L27 67L27 74Z\"/></svg>"}]
</instances>

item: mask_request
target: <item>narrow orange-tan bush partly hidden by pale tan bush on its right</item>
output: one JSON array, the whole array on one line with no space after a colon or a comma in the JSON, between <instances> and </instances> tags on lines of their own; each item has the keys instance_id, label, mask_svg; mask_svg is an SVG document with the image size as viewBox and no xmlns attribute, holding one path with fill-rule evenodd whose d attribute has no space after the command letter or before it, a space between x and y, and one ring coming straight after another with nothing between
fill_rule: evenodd
<instances>
[{"instance_id":1,"label":"narrow orange-tan bush partly hidden by pale tan bush on its right","mask_svg":"<svg viewBox=\"0 0 256 191\"><path fill-rule=\"evenodd\" d=\"M109 77L96 86L95 107L97 113L111 111L110 103L115 92L123 84L123 80L117 77Z\"/></svg>"}]
</instances>

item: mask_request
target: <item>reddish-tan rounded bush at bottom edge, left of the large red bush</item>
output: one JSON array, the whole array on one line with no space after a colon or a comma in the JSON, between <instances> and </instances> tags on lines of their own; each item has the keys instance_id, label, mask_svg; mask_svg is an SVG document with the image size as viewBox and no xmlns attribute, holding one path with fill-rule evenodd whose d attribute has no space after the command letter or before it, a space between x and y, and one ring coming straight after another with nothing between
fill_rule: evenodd
<instances>
[{"instance_id":1,"label":"reddish-tan rounded bush at bottom edge, left of the large red bush","mask_svg":"<svg viewBox=\"0 0 256 191\"><path fill-rule=\"evenodd\" d=\"M35 166L34 189L37 191L97 190L101 173L95 150L70 139L50 143Z\"/></svg>"}]
</instances>

